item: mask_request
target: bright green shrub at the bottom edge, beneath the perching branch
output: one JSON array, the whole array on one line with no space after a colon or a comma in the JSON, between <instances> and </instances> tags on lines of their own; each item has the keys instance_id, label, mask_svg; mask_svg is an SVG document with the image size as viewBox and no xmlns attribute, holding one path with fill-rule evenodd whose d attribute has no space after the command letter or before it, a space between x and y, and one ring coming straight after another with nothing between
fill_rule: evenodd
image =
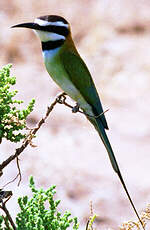
<instances>
[{"instance_id":1,"label":"bright green shrub at the bottom edge, beneath the perching branch","mask_svg":"<svg viewBox=\"0 0 150 230\"><path fill-rule=\"evenodd\" d=\"M33 193L31 199L27 196L18 199L21 211L16 217L17 230L66 230L71 224L74 230L78 229L76 217L71 218L71 213L68 211L64 215L57 211L60 200L54 200L55 186L46 191L42 188L36 189L31 177L30 188ZM48 204L48 208L45 208L45 204ZM10 226L3 228L3 222L4 218L1 216L0 230L12 230Z\"/></svg>"}]
</instances>

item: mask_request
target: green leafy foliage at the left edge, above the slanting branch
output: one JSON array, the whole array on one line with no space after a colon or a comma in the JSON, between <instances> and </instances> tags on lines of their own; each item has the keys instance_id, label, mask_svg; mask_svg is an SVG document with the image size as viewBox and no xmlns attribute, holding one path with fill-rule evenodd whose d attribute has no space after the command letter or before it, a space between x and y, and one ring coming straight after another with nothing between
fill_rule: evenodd
<instances>
[{"instance_id":1,"label":"green leafy foliage at the left edge, above the slanting branch","mask_svg":"<svg viewBox=\"0 0 150 230\"><path fill-rule=\"evenodd\" d=\"M35 100L32 99L26 109L17 109L23 103L14 100L17 90L10 90L16 84L16 78L10 76L12 65L6 65L0 70L0 142L2 138L11 142L19 142L25 138L23 129L26 127L26 118L32 112Z\"/></svg>"}]
</instances>

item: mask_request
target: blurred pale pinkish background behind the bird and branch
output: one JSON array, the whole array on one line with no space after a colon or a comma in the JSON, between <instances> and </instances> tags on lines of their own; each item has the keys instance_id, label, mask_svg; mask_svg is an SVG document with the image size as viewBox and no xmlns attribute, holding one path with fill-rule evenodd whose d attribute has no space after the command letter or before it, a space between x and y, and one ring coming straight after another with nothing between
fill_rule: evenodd
<instances>
[{"instance_id":1,"label":"blurred pale pinkish background behind the bird and branch","mask_svg":"<svg viewBox=\"0 0 150 230\"><path fill-rule=\"evenodd\" d=\"M0 66L12 63L18 98L36 99L28 119L34 127L61 92L45 70L41 44L28 29L10 29L35 17L58 14L70 23L75 44L96 83L108 136L125 182L141 213L150 200L150 1L149 0L1 0ZM107 152L84 116L57 105L33 143L20 156L22 182L9 184L8 202L15 216L18 195L31 194L29 175L37 186L57 185L61 210L78 216L80 228L90 216L90 201L98 215L97 229L117 229L136 220L133 209L110 165ZM17 146L20 146L18 144ZM16 145L3 141L1 162ZM5 170L1 186L17 174L16 162ZM14 210L15 207L15 210Z\"/></svg>"}]
</instances>

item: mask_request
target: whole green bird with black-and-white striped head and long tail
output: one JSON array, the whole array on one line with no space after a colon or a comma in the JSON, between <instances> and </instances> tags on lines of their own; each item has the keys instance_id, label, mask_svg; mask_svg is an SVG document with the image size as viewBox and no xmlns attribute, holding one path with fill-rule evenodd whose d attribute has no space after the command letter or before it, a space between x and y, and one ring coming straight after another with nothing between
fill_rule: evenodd
<instances>
[{"instance_id":1,"label":"whole green bird with black-and-white striped head and long tail","mask_svg":"<svg viewBox=\"0 0 150 230\"><path fill-rule=\"evenodd\" d=\"M108 124L100 97L88 67L76 49L71 35L70 24L62 16L46 15L37 17L34 22L17 24L12 28L32 29L40 38L48 74L77 103L78 108L83 111L86 118L97 130L107 150L112 168L117 173L134 212L144 229L107 137Z\"/></svg>"}]
</instances>

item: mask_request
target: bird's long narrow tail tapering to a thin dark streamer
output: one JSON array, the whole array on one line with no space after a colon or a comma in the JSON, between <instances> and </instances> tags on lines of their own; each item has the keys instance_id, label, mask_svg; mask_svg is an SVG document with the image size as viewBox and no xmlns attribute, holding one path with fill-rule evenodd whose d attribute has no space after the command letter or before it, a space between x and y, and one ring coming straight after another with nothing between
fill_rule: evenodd
<instances>
[{"instance_id":1,"label":"bird's long narrow tail tapering to a thin dark streamer","mask_svg":"<svg viewBox=\"0 0 150 230\"><path fill-rule=\"evenodd\" d=\"M109 156L110 162L112 164L112 167L113 167L114 171L118 174L118 177L119 177L119 179L120 179L120 181L122 183L122 186L123 186L123 188L124 188L124 190L125 190L125 192L127 194L127 197L128 197L128 199L129 199L129 201L130 201L130 203L131 203L131 205L132 205L132 207L133 207L133 209L135 211L135 214L136 214L137 218L139 219L139 221L140 221L140 223L141 223L141 225L142 225L142 227L144 229L143 223L142 223L142 221L141 221L141 219L139 217L139 214L138 214L138 212L137 212L137 210L136 210L136 208L134 206L134 203L133 203L133 201L132 201L132 199L130 197L130 194L129 194L128 189L126 187L126 184L124 182L124 179L123 179L123 177L121 175L121 172L120 172L116 157L114 155L114 152L112 150L111 144L110 144L109 139L108 139L108 137L106 135L105 129L103 127L103 124L102 124L100 118L95 119L95 118L89 118L88 117L88 120L96 128L96 130L97 130L97 132L98 132L98 134L99 134L99 136L100 136L100 138L101 138L101 140L102 140L102 142L103 142L103 144L104 144L104 146L105 146L105 148L106 148L106 150L108 152L108 156Z\"/></svg>"}]
</instances>

